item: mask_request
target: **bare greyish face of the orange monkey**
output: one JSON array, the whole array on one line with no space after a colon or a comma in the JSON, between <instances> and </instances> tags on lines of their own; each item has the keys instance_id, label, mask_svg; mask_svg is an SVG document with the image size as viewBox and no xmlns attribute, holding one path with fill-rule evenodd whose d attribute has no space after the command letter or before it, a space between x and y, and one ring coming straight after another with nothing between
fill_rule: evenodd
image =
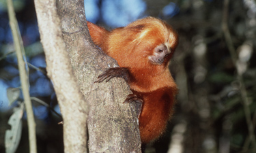
<instances>
[{"instance_id":1,"label":"bare greyish face of the orange monkey","mask_svg":"<svg viewBox=\"0 0 256 153\"><path fill-rule=\"evenodd\" d=\"M161 65L169 54L171 54L171 48L167 48L165 44L160 44L154 48L153 54L148 56L148 59L153 65Z\"/></svg>"}]
</instances>

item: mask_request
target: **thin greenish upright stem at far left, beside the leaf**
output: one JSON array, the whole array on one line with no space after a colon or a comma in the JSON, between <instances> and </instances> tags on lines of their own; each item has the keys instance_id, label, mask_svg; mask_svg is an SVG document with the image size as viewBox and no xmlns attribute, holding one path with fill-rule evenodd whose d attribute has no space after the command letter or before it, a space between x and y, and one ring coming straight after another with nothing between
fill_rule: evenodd
<instances>
[{"instance_id":1,"label":"thin greenish upright stem at far left, beside the leaf","mask_svg":"<svg viewBox=\"0 0 256 153\"><path fill-rule=\"evenodd\" d=\"M26 64L25 50L23 41L20 37L20 31L18 29L18 22L15 17L14 7L12 0L7 1L8 4L8 16L10 20L10 27L12 29L12 35L14 39L14 46L16 50L16 56L18 60L18 69L20 71L20 84L23 90L23 97L25 101L25 107L27 112L27 122L29 128L29 148L31 153L37 152L36 137L35 137L35 119L33 116L33 109L31 105L31 99L29 95L29 78L28 67Z\"/></svg>"}]
</instances>

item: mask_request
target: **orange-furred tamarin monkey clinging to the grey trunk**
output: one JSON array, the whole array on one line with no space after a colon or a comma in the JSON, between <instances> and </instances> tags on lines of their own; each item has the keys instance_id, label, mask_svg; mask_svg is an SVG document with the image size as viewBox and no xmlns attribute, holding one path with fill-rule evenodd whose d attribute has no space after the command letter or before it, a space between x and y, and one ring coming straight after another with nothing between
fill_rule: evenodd
<instances>
[{"instance_id":1,"label":"orange-furred tamarin monkey clinging to the grey trunk","mask_svg":"<svg viewBox=\"0 0 256 153\"><path fill-rule=\"evenodd\" d=\"M177 85L169 71L169 61L178 44L178 35L165 21L147 17L126 27L107 31L87 21L92 41L119 67L107 69L96 82L124 78L132 94L125 103L135 101L139 109L142 143L158 139L173 114Z\"/></svg>"}]
</instances>

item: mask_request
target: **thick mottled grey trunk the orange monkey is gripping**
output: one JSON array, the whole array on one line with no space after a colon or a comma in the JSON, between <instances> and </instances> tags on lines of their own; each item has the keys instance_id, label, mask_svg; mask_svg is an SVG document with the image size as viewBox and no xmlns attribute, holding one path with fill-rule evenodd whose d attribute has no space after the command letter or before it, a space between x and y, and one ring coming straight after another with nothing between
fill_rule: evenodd
<instances>
[{"instance_id":1,"label":"thick mottled grey trunk the orange monkey is gripping","mask_svg":"<svg viewBox=\"0 0 256 153\"><path fill-rule=\"evenodd\" d=\"M94 84L103 70L118 65L91 41L83 1L57 1L57 12L74 74L90 105L89 152L141 152L134 105L122 103L130 93L126 82L114 78Z\"/></svg>"}]
</instances>

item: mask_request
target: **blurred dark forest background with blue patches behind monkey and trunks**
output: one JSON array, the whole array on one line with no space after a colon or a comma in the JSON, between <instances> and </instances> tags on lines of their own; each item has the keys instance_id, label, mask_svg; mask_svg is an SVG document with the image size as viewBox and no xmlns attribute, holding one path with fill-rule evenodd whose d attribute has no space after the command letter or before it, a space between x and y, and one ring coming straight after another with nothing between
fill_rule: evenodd
<instances>
[{"instance_id":1,"label":"blurred dark forest background with blue patches behind monkey and trunks","mask_svg":"<svg viewBox=\"0 0 256 153\"><path fill-rule=\"evenodd\" d=\"M170 65L180 90L175 114L167 133L145 152L256 152L256 1L225 2L85 0L87 20L106 29L154 16L171 24L180 36ZM14 7L29 63L30 95L59 112L53 85L45 74L33 1L14 0ZM0 152L5 152L8 120L23 101L18 94L10 105L8 93L19 86L6 1L0 0ZM33 111L38 152L63 152L61 118L36 101ZM25 114L16 152L29 152L27 135Z\"/></svg>"}]
</instances>

